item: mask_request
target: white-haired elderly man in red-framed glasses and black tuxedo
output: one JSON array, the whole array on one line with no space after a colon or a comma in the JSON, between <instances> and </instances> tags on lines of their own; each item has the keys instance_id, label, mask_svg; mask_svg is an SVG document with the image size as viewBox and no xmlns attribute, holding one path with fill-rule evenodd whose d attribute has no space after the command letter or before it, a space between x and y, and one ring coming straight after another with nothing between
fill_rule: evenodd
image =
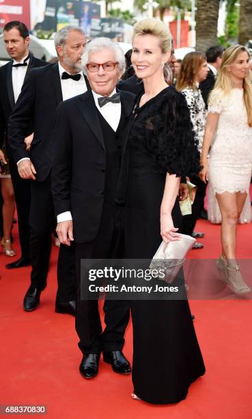
<instances>
[{"instance_id":1,"label":"white-haired elderly man in red-framed glasses and black tuxedo","mask_svg":"<svg viewBox=\"0 0 252 419\"><path fill-rule=\"evenodd\" d=\"M122 353L128 303L105 301L102 332L98 301L81 300L81 259L122 257L123 208L115 204L119 134L135 100L130 92L115 90L124 66L124 53L117 44L108 38L89 42L83 68L92 90L61 103L55 123L53 199L59 240L68 245L75 242L76 331L85 378L98 374L102 351L115 372L130 372Z\"/></svg>"}]
</instances>

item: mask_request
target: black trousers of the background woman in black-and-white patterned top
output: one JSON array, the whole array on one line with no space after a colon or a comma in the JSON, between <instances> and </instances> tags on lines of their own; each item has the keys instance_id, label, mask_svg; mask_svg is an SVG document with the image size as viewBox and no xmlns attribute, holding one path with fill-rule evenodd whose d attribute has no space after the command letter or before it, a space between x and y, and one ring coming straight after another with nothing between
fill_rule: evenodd
<instances>
[{"instance_id":1,"label":"black trousers of the background woman in black-and-white patterned top","mask_svg":"<svg viewBox=\"0 0 252 419\"><path fill-rule=\"evenodd\" d=\"M206 183L201 181L198 176L191 177L191 182L197 186L197 192L195 195L195 200L192 205L192 214L187 216L183 216L183 228L182 233L188 234L191 236L193 230L195 229L195 225L197 223L197 219L199 218L199 214L201 210L204 208L204 198L206 195Z\"/></svg>"}]
</instances>

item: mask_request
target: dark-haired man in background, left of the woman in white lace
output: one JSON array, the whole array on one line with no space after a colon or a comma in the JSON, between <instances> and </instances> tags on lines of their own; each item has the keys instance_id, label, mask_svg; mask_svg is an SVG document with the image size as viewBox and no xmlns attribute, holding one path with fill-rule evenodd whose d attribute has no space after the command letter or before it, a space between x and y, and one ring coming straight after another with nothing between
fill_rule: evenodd
<instances>
[{"instance_id":1,"label":"dark-haired man in background, left of the woman in white lace","mask_svg":"<svg viewBox=\"0 0 252 419\"><path fill-rule=\"evenodd\" d=\"M208 48L206 51L206 60L208 62L208 75L206 80L201 81L199 88L201 90L202 97L208 108L208 96L212 89L214 88L214 83L216 80L216 75L218 73L218 68L221 65L221 60L223 56L224 48L221 45L214 45L214 47Z\"/></svg>"}]
</instances>

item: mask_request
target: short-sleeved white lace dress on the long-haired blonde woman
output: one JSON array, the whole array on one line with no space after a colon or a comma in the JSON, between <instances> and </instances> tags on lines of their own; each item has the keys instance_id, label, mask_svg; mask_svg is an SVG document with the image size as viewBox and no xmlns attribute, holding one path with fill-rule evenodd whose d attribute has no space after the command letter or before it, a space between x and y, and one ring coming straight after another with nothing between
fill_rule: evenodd
<instances>
[{"instance_id":1,"label":"short-sleeved white lace dress on the long-haired blonde woman","mask_svg":"<svg viewBox=\"0 0 252 419\"><path fill-rule=\"evenodd\" d=\"M218 113L208 163L209 181L214 194L247 192L252 171L252 128L247 123L243 90L234 88L223 96L215 89L210 97L208 113Z\"/></svg>"}]
</instances>

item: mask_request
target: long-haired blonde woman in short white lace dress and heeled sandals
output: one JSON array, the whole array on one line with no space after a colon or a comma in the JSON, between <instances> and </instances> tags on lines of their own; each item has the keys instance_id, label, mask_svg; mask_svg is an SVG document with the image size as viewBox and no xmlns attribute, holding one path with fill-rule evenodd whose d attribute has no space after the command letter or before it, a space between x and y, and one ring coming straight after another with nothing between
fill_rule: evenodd
<instances>
[{"instance_id":1,"label":"long-haired blonde woman in short white lace dress and heeled sandals","mask_svg":"<svg viewBox=\"0 0 252 419\"><path fill-rule=\"evenodd\" d=\"M236 227L249 194L252 171L252 85L249 51L226 49L210 94L200 176L209 177L221 210L222 253L217 266L237 294L251 292L236 263ZM211 146L211 149L210 149ZM208 151L210 149L210 158Z\"/></svg>"}]
</instances>

